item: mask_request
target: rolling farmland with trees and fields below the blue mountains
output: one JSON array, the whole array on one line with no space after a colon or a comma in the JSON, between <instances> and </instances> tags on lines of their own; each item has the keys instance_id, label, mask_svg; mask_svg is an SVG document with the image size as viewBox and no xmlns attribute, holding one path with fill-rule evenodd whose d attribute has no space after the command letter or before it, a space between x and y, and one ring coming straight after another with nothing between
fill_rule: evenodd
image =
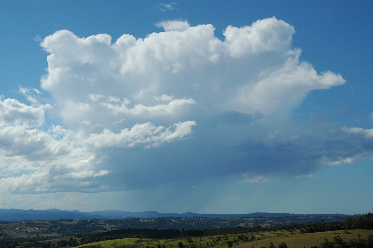
<instances>
[{"instance_id":1,"label":"rolling farmland with trees and fields below the blue mountains","mask_svg":"<svg viewBox=\"0 0 373 248\"><path fill-rule=\"evenodd\" d=\"M0 248L59 248L79 245L85 248L273 248L280 242L287 243L288 247L311 247L324 242L321 247L342 244L345 248L350 247L350 243L357 242L361 244L354 245L355 247L370 247L365 243L371 242L373 247L373 214L370 212L364 216L348 218L345 222L325 223L321 220L313 224L289 225L284 223L286 219L162 217L7 222L0 224ZM270 228L268 224L282 227ZM174 228L123 228L136 225ZM210 228L183 227L190 225Z\"/></svg>"}]
</instances>

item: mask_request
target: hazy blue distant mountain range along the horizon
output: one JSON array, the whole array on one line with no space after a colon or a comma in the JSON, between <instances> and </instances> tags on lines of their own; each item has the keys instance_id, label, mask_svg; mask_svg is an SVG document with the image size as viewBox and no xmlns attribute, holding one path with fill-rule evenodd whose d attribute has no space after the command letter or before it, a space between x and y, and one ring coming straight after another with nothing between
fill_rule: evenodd
<instances>
[{"instance_id":1,"label":"hazy blue distant mountain range along the horizon","mask_svg":"<svg viewBox=\"0 0 373 248\"><path fill-rule=\"evenodd\" d=\"M81 212L78 210L59 210L56 208L47 210L23 210L16 208L0 208L0 220L2 221L25 221L25 220L87 220L87 219L123 219L130 217L160 218L160 217L284 217L284 216L346 216L345 214L290 214L290 213L251 213L251 214L199 214L199 213L158 213L156 211L130 212L121 210L106 210L94 212Z\"/></svg>"}]
</instances>

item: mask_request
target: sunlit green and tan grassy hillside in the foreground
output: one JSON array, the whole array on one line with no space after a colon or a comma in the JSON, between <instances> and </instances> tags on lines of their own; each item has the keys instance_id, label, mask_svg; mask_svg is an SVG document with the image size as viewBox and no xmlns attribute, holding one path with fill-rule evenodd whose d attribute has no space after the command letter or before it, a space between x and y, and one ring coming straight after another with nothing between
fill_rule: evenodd
<instances>
[{"instance_id":1,"label":"sunlit green and tan grassy hillside in the foreground","mask_svg":"<svg viewBox=\"0 0 373 248\"><path fill-rule=\"evenodd\" d=\"M233 242L233 248L268 247L270 242L273 242L275 247L278 247L280 242L284 242L288 248L310 248L314 245L319 246L320 242L324 241L325 238L332 241L337 235L348 241L352 238L357 238L358 234L361 235L361 238L366 238L369 234L373 234L373 230L349 230L349 232L331 231L303 234L294 232L292 234L286 230L280 230L277 232L236 233L182 239L128 238L85 244L79 246L79 248L177 248L179 242L183 242L183 245L188 248L228 248L228 241ZM254 238L252 238L253 236ZM250 241L252 239L255 239L255 241Z\"/></svg>"}]
</instances>

